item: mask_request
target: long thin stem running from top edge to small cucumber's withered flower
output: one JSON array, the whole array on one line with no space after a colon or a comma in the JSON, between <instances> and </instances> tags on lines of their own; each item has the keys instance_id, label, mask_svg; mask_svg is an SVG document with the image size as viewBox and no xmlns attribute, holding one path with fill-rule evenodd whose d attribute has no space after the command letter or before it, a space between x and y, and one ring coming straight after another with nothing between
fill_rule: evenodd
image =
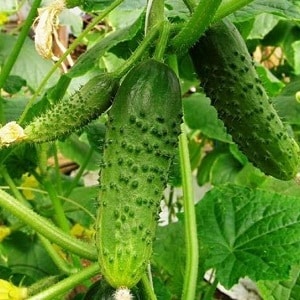
<instances>
[{"instance_id":1,"label":"long thin stem running from top edge to small cucumber's withered flower","mask_svg":"<svg viewBox=\"0 0 300 300\"><path fill-rule=\"evenodd\" d=\"M42 82L40 83L39 87L35 91L32 98L28 101L21 117L19 118L19 123L22 124L22 122L25 120L26 115L28 113L29 108L32 106L32 104L35 102L37 97L39 96L40 92L43 90L44 86L50 79L50 77L54 74L56 69L60 66L60 64L66 59L66 57L73 52L73 50L76 49L76 47L81 43L81 41L84 39L86 34L93 29L93 27L98 24L103 18L105 18L112 10L114 10L117 6L119 6L124 0L115 0L110 6L105 8L102 13L96 17L86 28L82 31L82 33L77 37L77 39L70 45L70 47L67 49L67 51L59 58L59 60L53 65L51 70L48 72L48 74L44 77Z\"/></svg>"}]
</instances>

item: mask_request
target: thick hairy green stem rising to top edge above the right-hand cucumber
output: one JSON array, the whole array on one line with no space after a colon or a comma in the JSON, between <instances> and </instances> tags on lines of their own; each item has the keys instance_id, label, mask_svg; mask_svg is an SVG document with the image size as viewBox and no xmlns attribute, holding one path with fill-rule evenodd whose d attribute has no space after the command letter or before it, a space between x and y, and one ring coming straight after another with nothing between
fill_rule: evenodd
<instances>
[{"instance_id":1,"label":"thick hairy green stem rising to top edge above the right-hand cucumber","mask_svg":"<svg viewBox=\"0 0 300 300\"><path fill-rule=\"evenodd\" d=\"M200 0L193 15L171 42L175 53L184 53L193 46L213 20L222 0Z\"/></svg>"}]
</instances>

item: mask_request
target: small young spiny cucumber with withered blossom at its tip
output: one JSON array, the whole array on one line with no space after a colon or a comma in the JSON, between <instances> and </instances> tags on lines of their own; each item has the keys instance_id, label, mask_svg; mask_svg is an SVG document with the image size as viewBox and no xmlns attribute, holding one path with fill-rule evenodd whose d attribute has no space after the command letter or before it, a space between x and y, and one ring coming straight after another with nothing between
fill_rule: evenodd
<instances>
[{"instance_id":1,"label":"small young spiny cucumber with withered blossom at its tip","mask_svg":"<svg viewBox=\"0 0 300 300\"><path fill-rule=\"evenodd\" d=\"M82 128L109 108L117 88L117 79L109 74L92 78L73 96L52 105L29 123L24 129L26 141L53 141Z\"/></svg>"}]
</instances>

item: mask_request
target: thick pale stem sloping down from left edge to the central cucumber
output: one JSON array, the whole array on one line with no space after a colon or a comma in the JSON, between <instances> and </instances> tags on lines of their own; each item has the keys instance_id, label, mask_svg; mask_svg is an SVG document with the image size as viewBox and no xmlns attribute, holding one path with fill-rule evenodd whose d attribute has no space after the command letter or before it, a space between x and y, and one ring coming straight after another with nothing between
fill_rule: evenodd
<instances>
[{"instance_id":1,"label":"thick pale stem sloping down from left edge to the central cucumber","mask_svg":"<svg viewBox=\"0 0 300 300\"><path fill-rule=\"evenodd\" d=\"M64 233L47 219L22 205L3 190L0 190L0 206L62 248L90 260L97 259L94 245L82 242Z\"/></svg>"}]
</instances>

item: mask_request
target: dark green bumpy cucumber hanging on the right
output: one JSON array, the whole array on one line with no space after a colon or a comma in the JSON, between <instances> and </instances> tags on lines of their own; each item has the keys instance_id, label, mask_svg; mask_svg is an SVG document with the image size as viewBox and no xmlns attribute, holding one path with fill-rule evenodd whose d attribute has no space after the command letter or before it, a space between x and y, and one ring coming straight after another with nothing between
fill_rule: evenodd
<instances>
[{"instance_id":1,"label":"dark green bumpy cucumber hanging on the right","mask_svg":"<svg viewBox=\"0 0 300 300\"><path fill-rule=\"evenodd\" d=\"M190 55L205 93L249 161L267 175L294 178L299 147L272 106L236 27L227 20L215 24Z\"/></svg>"}]
</instances>

